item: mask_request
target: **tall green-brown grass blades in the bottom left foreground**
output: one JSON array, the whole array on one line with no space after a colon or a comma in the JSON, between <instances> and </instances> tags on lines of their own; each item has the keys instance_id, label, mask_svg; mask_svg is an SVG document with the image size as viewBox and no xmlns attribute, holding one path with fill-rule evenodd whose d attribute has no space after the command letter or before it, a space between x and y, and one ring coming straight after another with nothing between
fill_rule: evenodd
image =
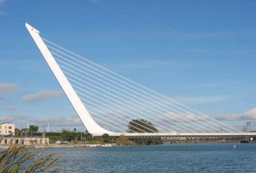
<instances>
[{"instance_id":1,"label":"tall green-brown grass blades in the bottom left foreground","mask_svg":"<svg viewBox=\"0 0 256 173\"><path fill-rule=\"evenodd\" d=\"M60 172L61 169L52 167L60 163L62 156L56 158L52 153L39 157L45 149L45 147L40 149L19 144L11 145L7 150L0 152L0 172Z\"/></svg>"}]
</instances>

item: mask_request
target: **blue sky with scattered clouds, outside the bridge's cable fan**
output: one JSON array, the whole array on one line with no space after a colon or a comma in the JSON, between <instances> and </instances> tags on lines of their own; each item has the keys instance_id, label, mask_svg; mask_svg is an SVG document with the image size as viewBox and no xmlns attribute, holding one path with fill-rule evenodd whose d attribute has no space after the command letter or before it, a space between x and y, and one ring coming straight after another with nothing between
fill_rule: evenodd
<instances>
[{"instance_id":1,"label":"blue sky with scattered clouds, outside the bridge's cable fan","mask_svg":"<svg viewBox=\"0 0 256 173\"><path fill-rule=\"evenodd\" d=\"M256 130L255 1L0 0L0 122L81 128L25 28L239 130Z\"/></svg>"}]
</instances>

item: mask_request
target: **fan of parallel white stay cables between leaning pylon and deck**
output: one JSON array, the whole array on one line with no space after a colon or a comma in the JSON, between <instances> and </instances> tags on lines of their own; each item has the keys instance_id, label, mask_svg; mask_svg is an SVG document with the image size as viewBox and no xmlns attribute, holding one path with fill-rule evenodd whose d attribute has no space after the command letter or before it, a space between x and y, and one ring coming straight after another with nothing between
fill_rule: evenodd
<instances>
[{"instance_id":1,"label":"fan of parallel white stay cables between leaning pylon and deck","mask_svg":"<svg viewBox=\"0 0 256 173\"><path fill-rule=\"evenodd\" d=\"M43 40L85 108L106 130L126 132L132 119L144 119L151 122L159 132L165 133L241 132L46 39ZM135 124L146 128L150 133L155 132L144 121L139 121L139 124ZM137 132L146 132L136 125L132 127Z\"/></svg>"}]
</instances>

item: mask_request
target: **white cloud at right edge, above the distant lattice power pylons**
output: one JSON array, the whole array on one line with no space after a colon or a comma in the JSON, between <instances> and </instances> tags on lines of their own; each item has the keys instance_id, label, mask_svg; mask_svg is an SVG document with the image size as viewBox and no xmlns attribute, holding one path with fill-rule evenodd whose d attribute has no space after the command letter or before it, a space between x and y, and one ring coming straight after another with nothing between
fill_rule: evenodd
<instances>
[{"instance_id":1,"label":"white cloud at right edge, above the distant lattice power pylons","mask_svg":"<svg viewBox=\"0 0 256 173\"><path fill-rule=\"evenodd\" d=\"M253 108L243 114L222 114L219 115L216 119L218 120L228 120L228 121L236 121L236 120L253 120L256 119L256 108Z\"/></svg>"}]
</instances>

